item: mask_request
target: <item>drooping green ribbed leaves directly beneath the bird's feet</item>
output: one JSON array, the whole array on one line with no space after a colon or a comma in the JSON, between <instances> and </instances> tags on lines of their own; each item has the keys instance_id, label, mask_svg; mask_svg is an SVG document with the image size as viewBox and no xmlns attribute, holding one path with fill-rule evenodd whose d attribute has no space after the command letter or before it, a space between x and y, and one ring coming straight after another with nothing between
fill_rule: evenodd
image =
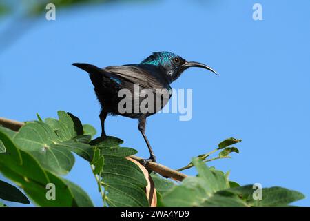
<instances>
[{"instance_id":1,"label":"drooping green ribbed leaves directly beneath the bird's feet","mask_svg":"<svg viewBox=\"0 0 310 221\"><path fill-rule=\"evenodd\" d=\"M103 200L114 206L149 206L145 195L147 182L141 169L125 159L137 153L132 148L120 147L123 140L116 137L101 137L90 144L96 149L93 164L94 173L101 170L101 184L105 189Z\"/></svg>"}]
</instances>

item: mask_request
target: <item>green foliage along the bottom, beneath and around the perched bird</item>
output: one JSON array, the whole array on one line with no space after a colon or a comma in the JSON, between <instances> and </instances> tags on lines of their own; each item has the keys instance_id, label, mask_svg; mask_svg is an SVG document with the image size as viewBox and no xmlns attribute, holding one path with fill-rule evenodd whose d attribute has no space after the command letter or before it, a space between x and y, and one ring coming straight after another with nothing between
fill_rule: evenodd
<instances>
[{"instance_id":1,"label":"green foliage along the bottom, beneath and around the perched bird","mask_svg":"<svg viewBox=\"0 0 310 221\"><path fill-rule=\"evenodd\" d=\"M0 173L15 184L0 181L0 199L23 204L31 201L37 206L94 206L81 187L63 177L70 173L77 155L89 162L104 206L149 206L145 175L127 160L137 153L135 149L122 147L123 140L116 137L92 140L96 130L65 111L58 112L58 119L37 118L18 132L0 126ZM239 153L231 145L240 141L231 137L214 151L194 157L183 169L194 166L198 175L183 182L152 173L157 206L289 206L304 198L298 191L278 186L240 186L229 180L229 173L205 164ZM218 157L209 159L217 151ZM56 186L52 200L48 198L49 184ZM258 191L261 199L256 198ZM0 202L0 206L6 204Z\"/></svg>"}]
</instances>

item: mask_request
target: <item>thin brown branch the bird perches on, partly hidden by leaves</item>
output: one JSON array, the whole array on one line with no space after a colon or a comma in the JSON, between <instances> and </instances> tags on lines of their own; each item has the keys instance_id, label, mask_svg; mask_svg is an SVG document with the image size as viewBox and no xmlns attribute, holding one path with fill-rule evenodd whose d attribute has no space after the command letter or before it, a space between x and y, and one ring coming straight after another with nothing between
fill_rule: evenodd
<instances>
[{"instance_id":1,"label":"thin brown branch the bird perches on, partly hidden by leaves","mask_svg":"<svg viewBox=\"0 0 310 221\"><path fill-rule=\"evenodd\" d=\"M13 131L19 131L19 128L21 128L21 126L23 126L25 123L23 122L17 122L15 120L12 119L6 119L3 117L0 117L0 125L4 126L6 128L9 128ZM137 157L137 156L130 156L130 158L137 160L138 162L140 162L141 164L143 164L141 161L143 160L141 157ZM182 181L184 180L187 175L180 173L174 169L171 169L167 166L164 166L162 164L158 164L155 162L148 162L145 165L145 168L149 171L154 171L156 173L161 174L163 177L170 177L174 180L178 180L178 181Z\"/></svg>"}]
</instances>

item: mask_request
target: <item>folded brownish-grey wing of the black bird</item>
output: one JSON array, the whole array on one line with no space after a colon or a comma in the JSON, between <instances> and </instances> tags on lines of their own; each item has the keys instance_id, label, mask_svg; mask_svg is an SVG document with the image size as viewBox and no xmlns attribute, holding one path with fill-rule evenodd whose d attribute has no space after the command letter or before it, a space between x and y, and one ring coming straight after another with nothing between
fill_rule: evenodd
<instances>
[{"instance_id":1,"label":"folded brownish-grey wing of the black bird","mask_svg":"<svg viewBox=\"0 0 310 221\"><path fill-rule=\"evenodd\" d=\"M149 73L145 68L138 66L109 66L103 71L123 77L125 80L132 82L132 84L139 84L143 88L162 89L165 84L160 79L156 79L154 75Z\"/></svg>"}]
</instances>

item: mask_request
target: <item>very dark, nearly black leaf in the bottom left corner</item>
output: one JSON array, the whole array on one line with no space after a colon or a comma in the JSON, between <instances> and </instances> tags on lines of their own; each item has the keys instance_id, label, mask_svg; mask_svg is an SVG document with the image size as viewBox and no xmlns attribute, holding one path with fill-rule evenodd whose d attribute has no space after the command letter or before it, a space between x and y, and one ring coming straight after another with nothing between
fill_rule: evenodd
<instances>
[{"instance_id":1,"label":"very dark, nearly black leaf in the bottom left corner","mask_svg":"<svg viewBox=\"0 0 310 221\"><path fill-rule=\"evenodd\" d=\"M30 204L28 198L15 186L0 180L0 198L2 200Z\"/></svg>"}]
</instances>

